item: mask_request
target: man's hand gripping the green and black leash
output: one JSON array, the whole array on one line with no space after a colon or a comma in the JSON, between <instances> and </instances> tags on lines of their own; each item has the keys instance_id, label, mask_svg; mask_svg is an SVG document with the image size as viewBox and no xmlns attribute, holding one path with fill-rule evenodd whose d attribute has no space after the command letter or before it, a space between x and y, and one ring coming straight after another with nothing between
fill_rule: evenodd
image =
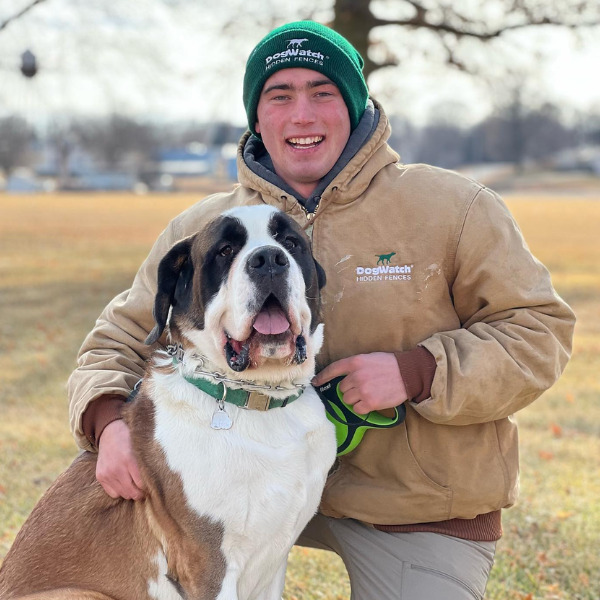
<instances>
[{"instance_id":1,"label":"man's hand gripping the green and black leash","mask_svg":"<svg viewBox=\"0 0 600 600\"><path fill-rule=\"evenodd\" d=\"M323 385L334 377L345 375L340 383L344 402L359 415L372 410L400 406L408 400L396 357L388 352L357 354L325 367L313 385Z\"/></svg>"}]
</instances>

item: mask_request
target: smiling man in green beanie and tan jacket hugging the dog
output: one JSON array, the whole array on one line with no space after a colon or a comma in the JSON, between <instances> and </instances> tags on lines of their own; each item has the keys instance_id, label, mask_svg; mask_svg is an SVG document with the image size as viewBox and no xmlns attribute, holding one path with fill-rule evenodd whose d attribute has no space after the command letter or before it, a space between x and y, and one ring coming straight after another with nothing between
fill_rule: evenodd
<instances>
[{"instance_id":1,"label":"smiling man in green beanie and tan jacket hugging the dog","mask_svg":"<svg viewBox=\"0 0 600 600\"><path fill-rule=\"evenodd\" d=\"M113 497L143 496L120 407L151 349L156 268L177 240L238 204L296 219L325 268L323 370L359 414L405 404L330 475L299 543L337 552L352 598L482 598L518 488L511 415L550 387L574 316L490 190L387 145L363 61L303 21L275 29L246 65L241 186L177 217L132 288L106 308L72 375L71 423L98 449ZM162 340L164 343L164 340Z\"/></svg>"}]
</instances>

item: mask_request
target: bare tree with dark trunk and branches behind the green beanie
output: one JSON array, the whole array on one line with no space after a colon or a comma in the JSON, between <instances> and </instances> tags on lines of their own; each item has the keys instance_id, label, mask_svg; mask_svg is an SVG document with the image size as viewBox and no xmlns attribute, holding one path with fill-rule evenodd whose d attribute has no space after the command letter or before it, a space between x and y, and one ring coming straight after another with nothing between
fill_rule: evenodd
<instances>
[{"instance_id":1,"label":"bare tree with dark trunk and branches behind the green beanie","mask_svg":"<svg viewBox=\"0 0 600 600\"><path fill-rule=\"evenodd\" d=\"M332 26L365 58L365 75L398 65L403 55L381 30L407 34L429 32L443 60L467 72L477 72L470 60L472 42L486 44L511 31L556 26L570 29L600 24L600 5L582 0L335 0ZM387 41L386 41L387 40ZM464 44L463 42L467 42ZM429 55L431 56L430 51ZM376 58L373 58L376 55ZM406 56L406 54L404 54Z\"/></svg>"}]
</instances>

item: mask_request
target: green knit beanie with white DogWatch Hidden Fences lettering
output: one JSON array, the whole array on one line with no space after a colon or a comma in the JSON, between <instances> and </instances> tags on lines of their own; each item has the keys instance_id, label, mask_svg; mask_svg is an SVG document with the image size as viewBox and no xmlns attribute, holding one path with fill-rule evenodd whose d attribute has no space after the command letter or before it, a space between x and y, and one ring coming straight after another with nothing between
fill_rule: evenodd
<instances>
[{"instance_id":1,"label":"green knit beanie with white DogWatch Hidden Fences lettering","mask_svg":"<svg viewBox=\"0 0 600 600\"><path fill-rule=\"evenodd\" d=\"M277 71L294 67L318 71L337 85L354 130L369 97L363 64L362 56L346 38L320 23L297 21L274 29L258 43L246 63L244 107L250 131L257 135L256 109L265 81Z\"/></svg>"}]
</instances>

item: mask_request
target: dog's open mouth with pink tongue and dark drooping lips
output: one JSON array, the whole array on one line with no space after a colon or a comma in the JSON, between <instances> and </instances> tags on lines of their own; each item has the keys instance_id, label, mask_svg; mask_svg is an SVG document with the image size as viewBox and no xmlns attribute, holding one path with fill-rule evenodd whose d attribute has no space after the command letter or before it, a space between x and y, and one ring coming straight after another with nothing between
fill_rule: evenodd
<instances>
[{"instance_id":1,"label":"dog's open mouth with pink tongue and dark drooping lips","mask_svg":"<svg viewBox=\"0 0 600 600\"><path fill-rule=\"evenodd\" d=\"M306 340L295 336L290 319L272 294L256 314L250 335L236 340L225 332L225 359L234 371L244 371L263 359L282 359L292 355L298 364L306 360Z\"/></svg>"}]
</instances>

